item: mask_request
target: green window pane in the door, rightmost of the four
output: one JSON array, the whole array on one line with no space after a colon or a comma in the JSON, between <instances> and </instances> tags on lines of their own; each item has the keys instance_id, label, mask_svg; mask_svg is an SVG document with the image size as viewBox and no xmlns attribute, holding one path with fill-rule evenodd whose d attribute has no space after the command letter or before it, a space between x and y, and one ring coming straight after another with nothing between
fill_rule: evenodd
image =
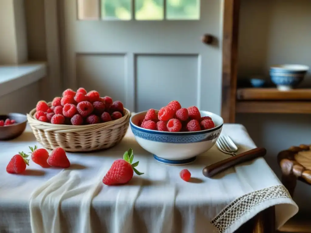
<instances>
[{"instance_id":1,"label":"green window pane in the door, rightmost of the four","mask_svg":"<svg viewBox=\"0 0 311 233\"><path fill-rule=\"evenodd\" d=\"M172 20L200 19L200 0L166 0L166 18Z\"/></svg>"}]
</instances>

